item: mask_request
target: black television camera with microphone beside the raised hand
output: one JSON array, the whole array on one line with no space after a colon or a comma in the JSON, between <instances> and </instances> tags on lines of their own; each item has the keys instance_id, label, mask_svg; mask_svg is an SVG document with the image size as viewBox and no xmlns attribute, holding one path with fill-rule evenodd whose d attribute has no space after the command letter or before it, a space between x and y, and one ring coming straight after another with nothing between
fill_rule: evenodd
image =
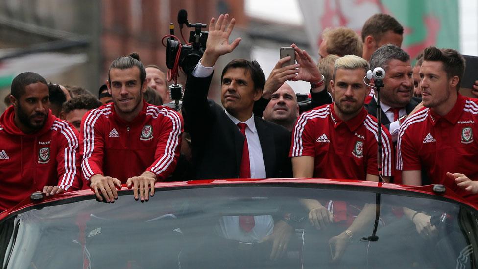
<instances>
[{"instance_id":1,"label":"black television camera with microphone beside the raised hand","mask_svg":"<svg viewBox=\"0 0 478 269\"><path fill-rule=\"evenodd\" d=\"M166 66L169 69L174 69L175 65L181 66L181 69L187 75L191 74L196 67L197 63L206 50L206 41L208 39L208 32L201 31L202 28L206 28L206 24L188 23L188 12L181 9L178 13L178 24L180 30L183 25L186 27L194 28L189 34L189 43L181 44L178 39L169 37L166 41ZM174 32L171 33L174 35ZM181 36L182 36L181 32ZM176 63L177 62L177 63Z\"/></svg>"}]
</instances>

